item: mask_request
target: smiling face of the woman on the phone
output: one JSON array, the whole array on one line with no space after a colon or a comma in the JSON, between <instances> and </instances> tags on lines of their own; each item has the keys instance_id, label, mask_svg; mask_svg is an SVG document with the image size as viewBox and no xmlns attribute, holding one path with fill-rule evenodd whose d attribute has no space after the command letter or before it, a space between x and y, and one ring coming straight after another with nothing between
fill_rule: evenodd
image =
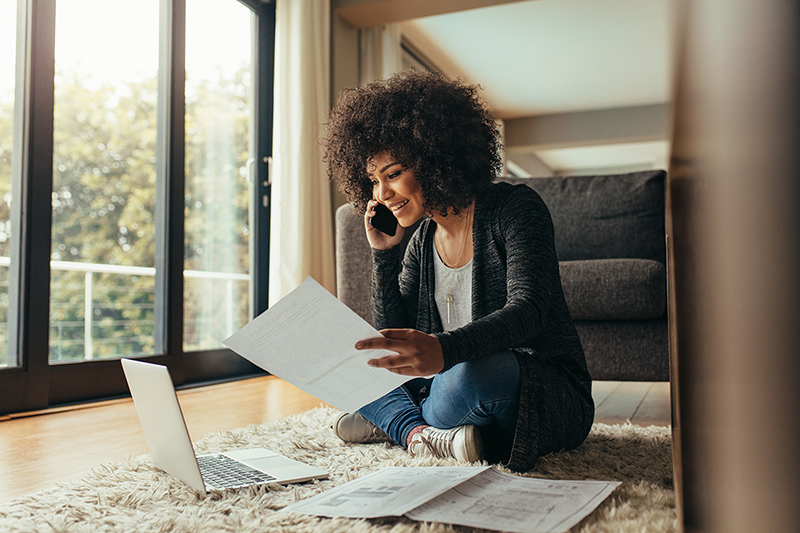
<instances>
[{"instance_id":1,"label":"smiling face of the woman on the phone","mask_svg":"<svg viewBox=\"0 0 800 533\"><path fill-rule=\"evenodd\" d=\"M389 152L379 152L367 161L372 197L388 207L404 228L422 218L422 187L414 173L403 168Z\"/></svg>"}]
</instances>

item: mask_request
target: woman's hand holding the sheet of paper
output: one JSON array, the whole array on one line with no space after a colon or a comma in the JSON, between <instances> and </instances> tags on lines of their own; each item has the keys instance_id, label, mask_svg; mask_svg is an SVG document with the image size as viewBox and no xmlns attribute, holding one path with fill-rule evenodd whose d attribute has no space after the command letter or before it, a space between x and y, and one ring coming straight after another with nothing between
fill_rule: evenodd
<instances>
[{"instance_id":1,"label":"woman's hand holding the sheet of paper","mask_svg":"<svg viewBox=\"0 0 800 533\"><path fill-rule=\"evenodd\" d=\"M371 359L370 366L385 368L403 376L430 376L444 368L439 339L416 329L384 329L383 337L356 343L358 350L390 350L397 355Z\"/></svg>"}]
</instances>

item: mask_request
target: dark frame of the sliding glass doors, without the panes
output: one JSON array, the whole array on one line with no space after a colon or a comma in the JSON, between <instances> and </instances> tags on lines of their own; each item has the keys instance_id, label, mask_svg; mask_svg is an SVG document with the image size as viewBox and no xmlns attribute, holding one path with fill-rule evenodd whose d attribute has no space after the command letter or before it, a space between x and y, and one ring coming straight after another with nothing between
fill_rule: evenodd
<instances>
[{"instance_id":1,"label":"dark frame of the sliding glass doors, without the panes","mask_svg":"<svg viewBox=\"0 0 800 533\"><path fill-rule=\"evenodd\" d=\"M9 360L17 364L0 369L0 413L128 394L117 359L49 363L56 1L18 0L12 154L15 231L9 270L9 337L16 339L10 345L16 350L9 350ZM238 1L256 15L252 44L256 186L250 238L255 244L251 291L257 315L267 308L269 288L268 162L272 156L275 2L230 1ZM185 15L186 0L161 0L154 328L156 351L160 353L141 357L168 366L179 386L263 373L228 349L183 349Z\"/></svg>"}]
</instances>

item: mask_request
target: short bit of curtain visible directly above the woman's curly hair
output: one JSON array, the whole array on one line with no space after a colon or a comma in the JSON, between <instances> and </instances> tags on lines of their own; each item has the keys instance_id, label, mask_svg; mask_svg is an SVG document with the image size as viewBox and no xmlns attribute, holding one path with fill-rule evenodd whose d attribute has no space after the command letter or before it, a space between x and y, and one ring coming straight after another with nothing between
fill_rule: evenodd
<instances>
[{"instance_id":1,"label":"short bit of curtain visible directly above the woman's curly hair","mask_svg":"<svg viewBox=\"0 0 800 533\"><path fill-rule=\"evenodd\" d=\"M403 68L400 26L384 24L364 28L358 34L360 47L359 82L388 78Z\"/></svg>"}]
</instances>

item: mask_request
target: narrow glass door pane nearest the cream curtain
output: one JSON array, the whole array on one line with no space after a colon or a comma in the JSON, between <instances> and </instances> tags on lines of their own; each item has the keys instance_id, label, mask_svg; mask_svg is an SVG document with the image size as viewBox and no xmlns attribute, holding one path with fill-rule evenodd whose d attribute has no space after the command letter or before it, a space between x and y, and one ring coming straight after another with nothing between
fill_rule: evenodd
<instances>
[{"instance_id":1,"label":"narrow glass door pane nearest the cream curtain","mask_svg":"<svg viewBox=\"0 0 800 533\"><path fill-rule=\"evenodd\" d=\"M186 351L222 348L252 316L254 15L186 1Z\"/></svg>"}]
</instances>

